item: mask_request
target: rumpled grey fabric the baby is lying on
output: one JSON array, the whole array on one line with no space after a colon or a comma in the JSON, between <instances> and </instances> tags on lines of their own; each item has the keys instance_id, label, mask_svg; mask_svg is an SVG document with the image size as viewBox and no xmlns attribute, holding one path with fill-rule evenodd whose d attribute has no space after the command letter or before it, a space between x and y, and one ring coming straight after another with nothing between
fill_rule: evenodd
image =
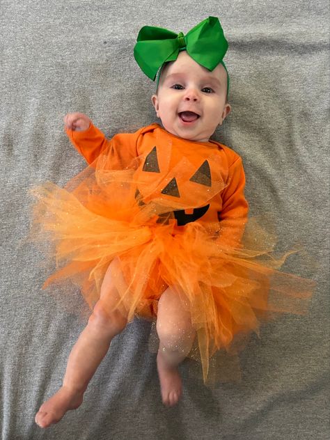
<instances>
[{"instance_id":1,"label":"rumpled grey fabric the baby is lying on","mask_svg":"<svg viewBox=\"0 0 330 440\"><path fill-rule=\"evenodd\" d=\"M2 0L0 8L1 439L329 439L328 2ZM317 281L310 313L262 329L242 353L239 384L211 391L184 364L173 409L159 397L150 324L135 320L113 340L84 404L42 431L34 414L61 385L84 322L40 288L47 273L26 242L28 190L64 184L84 167L63 132L68 111L87 113L107 136L154 122L155 86L132 56L139 29L187 32L208 15L230 42L233 111L215 137L242 155L251 213L272 213L278 249L299 242L317 262L308 269L292 257L285 266Z\"/></svg>"}]
</instances>

